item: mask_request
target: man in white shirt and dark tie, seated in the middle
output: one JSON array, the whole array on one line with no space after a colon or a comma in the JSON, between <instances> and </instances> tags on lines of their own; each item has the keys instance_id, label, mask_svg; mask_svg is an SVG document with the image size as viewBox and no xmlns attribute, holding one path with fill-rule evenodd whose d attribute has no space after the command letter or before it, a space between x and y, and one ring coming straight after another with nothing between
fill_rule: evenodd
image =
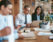
<instances>
[{"instance_id":1,"label":"man in white shirt and dark tie, seated in the middle","mask_svg":"<svg viewBox=\"0 0 53 42\"><path fill-rule=\"evenodd\" d=\"M16 16L15 25L17 28L30 27L32 23L32 19L29 12L30 12L30 7L28 5L25 5L23 9L23 13L19 13Z\"/></svg>"}]
</instances>

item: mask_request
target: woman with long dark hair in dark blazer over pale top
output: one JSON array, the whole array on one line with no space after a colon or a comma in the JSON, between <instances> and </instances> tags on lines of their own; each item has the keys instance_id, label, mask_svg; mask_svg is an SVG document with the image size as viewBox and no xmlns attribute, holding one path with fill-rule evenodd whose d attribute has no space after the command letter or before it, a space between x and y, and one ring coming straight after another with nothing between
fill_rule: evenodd
<instances>
[{"instance_id":1,"label":"woman with long dark hair in dark blazer over pale top","mask_svg":"<svg viewBox=\"0 0 53 42\"><path fill-rule=\"evenodd\" d=\"M40 21L44 19L44 11L41 6L38 6L35 9L35 12L32 14L32 21Z\"/></svg>"}]
</instances>

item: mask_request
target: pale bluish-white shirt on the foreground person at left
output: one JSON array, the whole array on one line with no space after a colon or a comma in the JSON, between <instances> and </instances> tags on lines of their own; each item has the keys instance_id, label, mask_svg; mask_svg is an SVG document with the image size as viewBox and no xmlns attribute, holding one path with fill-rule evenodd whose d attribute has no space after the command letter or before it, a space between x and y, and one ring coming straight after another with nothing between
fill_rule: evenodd
<instances>
[{"instance_id":1,"label":"pale bluish-white shirt on the foreground person at left","mask_svg":"<svg viewBox=\"0 0 53 42\"><path fill-rule=\"evenodd\" d=\"M6 15L3 16L0 14L0 30L4 29L5 27L9 26L11 28L11 34L9 36L4 36L3 38L8 38L9 42L14 42L14 25L13 25L13 16ZM13 39L13 40L10 40Z\"/></svg>"}]
</instances>

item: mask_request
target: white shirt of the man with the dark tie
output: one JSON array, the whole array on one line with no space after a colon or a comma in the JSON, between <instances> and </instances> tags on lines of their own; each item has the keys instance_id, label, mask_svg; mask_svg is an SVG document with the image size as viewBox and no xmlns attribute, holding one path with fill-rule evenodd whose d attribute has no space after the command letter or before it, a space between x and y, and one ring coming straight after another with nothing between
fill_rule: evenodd
<instances>
[{"instance_id":1,"label":"white shirt of the man with the dark tie","mask_svg":"<svg viewBox=\"0 0 53 42\"><path fill-rule=\"evenodd\" d=\"M25 14L24 13L18 14L15 21L16 26L18 25L26 26L26 24L24 23L25 23ZM31 23L32 23L31 15L27 14L27 24L31 24Z\"/></svg>"}]
</instances>

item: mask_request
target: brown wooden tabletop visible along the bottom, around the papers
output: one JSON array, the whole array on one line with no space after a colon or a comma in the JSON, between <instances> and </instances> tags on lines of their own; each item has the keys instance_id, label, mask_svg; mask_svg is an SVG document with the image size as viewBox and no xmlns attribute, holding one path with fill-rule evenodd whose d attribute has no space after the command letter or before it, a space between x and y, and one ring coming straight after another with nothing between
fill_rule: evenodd
<instances>
[{"instance_id":1,"label":"brown wooden tabletop visible along the bottom, around the papers","mask_svg":"<svg viewBox=\"0 0 53 42\"><path fill-rule=\"evenodd\" d=\"M36 39L32 39L32 40L30 40L30 39L29 40L27 40L27 39L20 39L20 40L15 40L15 42L53 42L53 40L49 39L49 36L38 36L37 35L38 32L37 31L35 32ZM8 41L4 41L4 42L8 42Z\"/></svg>"}]
</instances>

